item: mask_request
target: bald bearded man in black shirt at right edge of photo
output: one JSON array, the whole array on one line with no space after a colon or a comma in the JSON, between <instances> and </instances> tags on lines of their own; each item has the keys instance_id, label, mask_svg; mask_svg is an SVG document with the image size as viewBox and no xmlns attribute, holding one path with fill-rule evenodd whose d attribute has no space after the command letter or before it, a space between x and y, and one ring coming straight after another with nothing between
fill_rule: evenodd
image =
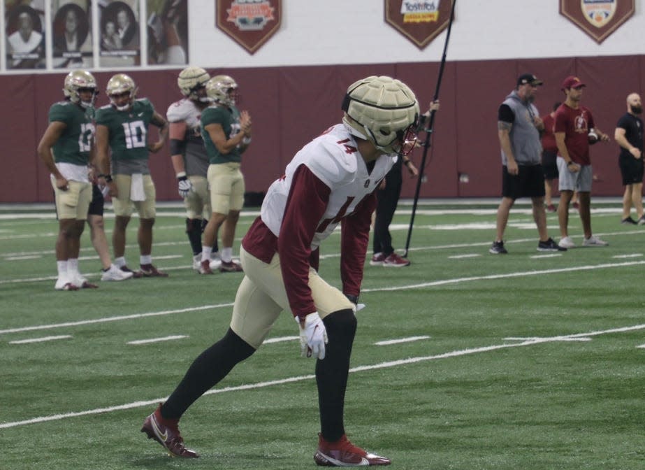
<instances>
[{"instance_id":1,"label":"bald bearded man in black shirt at right edge of photo","mask_svg":"<svg viewBox=\"0 0 645 470\"><path fill-rule=\"evenodd\" d=\"M643 121L638 116L643 107L641 97L631 93L627 97L627 113L618 120L614 138L621 146L618 166L623 176L625 194L623 194L622 224L645 225L643 215ZM638 220L630 216L632 205L636 209Z\"/></svg>"}]
</instances>

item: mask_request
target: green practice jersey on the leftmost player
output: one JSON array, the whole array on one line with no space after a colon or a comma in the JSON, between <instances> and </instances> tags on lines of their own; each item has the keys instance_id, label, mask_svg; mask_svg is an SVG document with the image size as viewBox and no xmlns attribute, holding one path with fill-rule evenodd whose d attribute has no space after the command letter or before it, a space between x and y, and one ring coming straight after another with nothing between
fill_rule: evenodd
<instances>
[{"instance_id":1,"label":"green practice jersey on the leftmost player","mask_svg":"<svg viewBox=\"0 0 645 470\"><path fill-rule=\"evenodd\" d=\"M50 122L64 122L66 127L52 147L56 163L87 165L94 139L93 108L81 108L71 101L60 101L50 108Z\"/></svg>"}]
</instances>

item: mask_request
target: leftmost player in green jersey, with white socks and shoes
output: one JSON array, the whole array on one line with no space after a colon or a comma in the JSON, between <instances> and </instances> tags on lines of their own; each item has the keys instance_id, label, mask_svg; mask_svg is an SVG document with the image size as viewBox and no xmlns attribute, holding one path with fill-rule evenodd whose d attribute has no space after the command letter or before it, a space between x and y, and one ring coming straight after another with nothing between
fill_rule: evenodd
<instances>
[{"instance_id":1,"label":"leftmost player in green jersey, with white socks and shoes","mask_svg":"<svg viewBox=\"0 0 645 470\"><path fill-rule=\"evenodd\" d=\"M50 108L50 124L38 143L38 157L51 174L59 223L56 290L97 287L78 271L78 252L92 200L87 165L94 157L92 112L98 92L92 73L84 70L68 73L63 87L65 100Z\"/></svg>"}]
</instances>

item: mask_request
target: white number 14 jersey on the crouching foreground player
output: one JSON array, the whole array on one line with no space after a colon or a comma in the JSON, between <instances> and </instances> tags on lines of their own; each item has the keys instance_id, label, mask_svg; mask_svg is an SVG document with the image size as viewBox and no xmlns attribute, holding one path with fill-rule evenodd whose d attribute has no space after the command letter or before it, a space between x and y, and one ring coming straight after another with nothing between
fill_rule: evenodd
<instances>
[{"instance_id":1,"label":"white number 14 jersey on the crouching foreground player","mask_svg":"<svg viewBox=\"0 0 645 470\"><path fill-rule=\"evenodd\" d=\"M262 221L275 236L280 236L293 174L298 166L306 165L331 189L326 211L312 240L311 249L315 250L343 217L352 214L358 203L376 190L396 158L396 155L381 155L369 173L354 136L345 124L336 124L296 153L285 175L270 185L262 204Z\"/></svg>"}]
</instances>

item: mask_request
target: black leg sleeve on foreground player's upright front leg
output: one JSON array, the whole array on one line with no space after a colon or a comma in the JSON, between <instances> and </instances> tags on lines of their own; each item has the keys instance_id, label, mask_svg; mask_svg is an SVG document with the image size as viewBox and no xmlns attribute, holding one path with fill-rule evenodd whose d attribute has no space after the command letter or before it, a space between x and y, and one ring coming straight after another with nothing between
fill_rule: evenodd
<instances>
[{"instance_id":1,"label":"black leg sleeve on foreground player's upright front leg","mask_svg":"<svg viewBox=\"0 0 645 470\"><path fill-rule=\"evenodd\" d=\"M329 342L325 358L316 362L316 383L321 434L324 439L333 442L345 434L345 390L349 357L356 335L356 315L348 308L327 315L323 322Z\"/></svg>"}]
</instances>

